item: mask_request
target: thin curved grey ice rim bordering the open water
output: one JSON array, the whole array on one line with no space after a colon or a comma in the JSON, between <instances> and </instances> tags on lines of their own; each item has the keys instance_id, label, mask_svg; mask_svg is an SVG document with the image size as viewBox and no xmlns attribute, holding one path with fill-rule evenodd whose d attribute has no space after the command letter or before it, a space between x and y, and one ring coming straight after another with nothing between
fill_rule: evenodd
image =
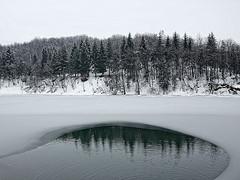
<instances>
[{"instance_id":1,"label":"thin curved grey ice rim bordering the open water","mask_svg":"<svg viewBox=\"0 0 240 180\"><path fill-rule=\"evenodd\" d=\"M144 123L135 123L135 122L127 122L127 121L109 121L109 122L101 122L101 123L89 123L89 124L76 124L76 125L70 125L70 126L63 126L63 127L56 127L56 128L50 128L48 130L42 131L38 137L36 137L36 141L31 143L30 145L24 147L21 150L9 153L9 154L5 154L5 155L0 155L0 160L3 158L7 158L10 156L14 156L14 155L18 155L18 154L22 154L22 153L26 153L28 151L37 149L43 145L46 145L50 142L52 142L53 140L55 140L56 138L66 134L66 133L70 133L72 131L76 131L76 130L84 130L84 129L89 129L89 128L96 128L96 127L104 127L104 126L123 126L123 127L132 127L132 128L142 128L142 129L151 129L151 130L162 130L162 131L171 131L171 133L177 133L177 134L185 134L188 136L192 136L194 138L198 138L204 141L207 141L219 148L221 148L228 156L228 162L227 162L227 166L225 167L225 169L218 175L215 177L215 179L217 179L223 172L225 172L225 170L229 167L231 158L230 155L228 154L228 152L221 146L212 143L211 141L205 140L203 138L199 138L195 135L190 135L188 133L185 133L184 131L178 131L178 130L172 130L170 128L165 128L165 127L160 127L157 125L149 125L149 124L144 124Z\"/></svg>"}]
</instances>

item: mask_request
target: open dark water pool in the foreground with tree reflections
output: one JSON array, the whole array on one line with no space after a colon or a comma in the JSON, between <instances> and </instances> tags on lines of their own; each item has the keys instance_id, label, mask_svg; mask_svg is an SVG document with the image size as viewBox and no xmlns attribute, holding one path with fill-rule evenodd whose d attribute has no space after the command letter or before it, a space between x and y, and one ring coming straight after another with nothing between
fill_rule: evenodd
<instances>
[{"instance_id":1,"label":"open dark water pool in the foreground with tree reflections","mask_svg":"<svg viewBox=\"0 0 240 180\"><path fill-rule=\"evenodd\" d=\"M0 179L213 180L227 153L164 129L105 126L67 133L40 148L0 160Z\"/></svg>"}]
</instances>

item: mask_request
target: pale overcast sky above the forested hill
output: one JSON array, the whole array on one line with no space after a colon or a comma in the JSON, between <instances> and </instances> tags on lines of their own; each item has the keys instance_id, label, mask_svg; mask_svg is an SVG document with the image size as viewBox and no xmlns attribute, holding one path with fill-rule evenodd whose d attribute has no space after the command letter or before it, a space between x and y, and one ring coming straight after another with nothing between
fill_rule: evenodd
<instances>
[{"instance_id":1,"label":"pale overcast sky above the forested hill","mask_svg":"<svg viewBox=\"0 0 240 180\"><path fill-rule=\"evenodd\" d=\"M0 43L160 30L240 42L239 17L240 0L0 0Z\"/></svg>"}]
</instances>

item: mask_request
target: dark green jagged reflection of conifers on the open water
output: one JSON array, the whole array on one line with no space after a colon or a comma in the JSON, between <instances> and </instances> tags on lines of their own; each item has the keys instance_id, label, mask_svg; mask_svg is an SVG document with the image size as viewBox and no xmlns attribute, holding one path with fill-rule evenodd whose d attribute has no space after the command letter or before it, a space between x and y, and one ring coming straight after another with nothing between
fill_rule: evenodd
<instances>
[{"instance_id":1,"label":"dark green jagged reflection of conifers on the open water","mask_svg":"<svg viewBox=\"0 0 240 180\"><path fill-rule=\"evenodd\" d=\"M144 155L152 151L159 152L162 156L174 153L175 157L179 159L181 155L193 154L195 146L199 147L200 153L206 151L211 151L215 155L220 153L219 148L214 144L166 129L105 126L67 133L57 140L72 141L76 148L81 146L85 152L105 150L105 146L112 151L113 144L120 144L124 147L125 152L131 153L132 156L136 149L141 149L144 151Z\"/></svg>"}]
</instances>

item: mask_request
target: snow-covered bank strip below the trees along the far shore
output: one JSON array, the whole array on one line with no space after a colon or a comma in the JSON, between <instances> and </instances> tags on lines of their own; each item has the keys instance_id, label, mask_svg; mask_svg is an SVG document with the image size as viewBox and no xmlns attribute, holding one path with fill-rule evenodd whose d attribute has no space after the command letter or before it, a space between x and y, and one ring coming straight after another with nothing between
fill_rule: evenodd
<instances>
[{"instance_id":1,"label":"snow-covered bank strip below the trees along the far shore","mask_svg":"<svg viewBox=\"0 0 240 180\"><path fill-rule=\"evenodd\" d=\"M44 79L41 81L22 80L3 81L0 80L0 95L137 95L138 84L125 80L123 85L120 82L113 82L108 76L94 77L93 75L85 82L80 78L56 78ZM123 88L124 87L124 88ZM123 91L124 89L124 91ZM140 95L240 95L240 84L234 77L228 77L224 81L216 80L209 83L201 80L181 80L176 85L171 85L167 92L163 92L156 80L139 83Z\"/></svg>"}]
</instances>

